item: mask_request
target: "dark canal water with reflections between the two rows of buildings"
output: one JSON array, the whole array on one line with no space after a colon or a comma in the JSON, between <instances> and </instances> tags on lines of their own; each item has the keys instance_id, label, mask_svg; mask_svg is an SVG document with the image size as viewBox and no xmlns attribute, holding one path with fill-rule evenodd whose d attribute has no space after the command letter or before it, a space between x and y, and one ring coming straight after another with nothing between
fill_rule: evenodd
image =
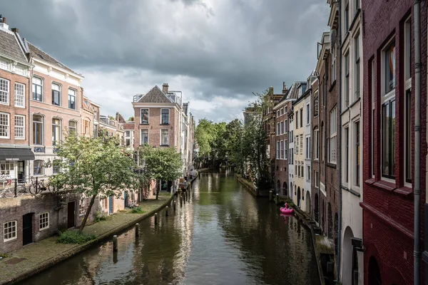
<instances>
[{"instance_id":1,"label":"dark canal water with reflections between the two rows of buildings","mask_svg":"<svg viewBox=\"0 0 428 285\"><path fill-rule=\"evenodd\" d=\"M320 284L310 232L233 173L201 173L190 198L22 284Z\"/></svg>"}]
</instances>

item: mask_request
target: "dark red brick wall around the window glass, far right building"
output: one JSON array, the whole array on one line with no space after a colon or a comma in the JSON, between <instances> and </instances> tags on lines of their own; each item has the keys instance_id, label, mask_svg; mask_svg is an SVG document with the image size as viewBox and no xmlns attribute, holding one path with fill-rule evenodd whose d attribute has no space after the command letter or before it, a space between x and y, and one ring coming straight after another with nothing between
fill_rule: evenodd
<instances>
[{"instance_id":1,"label":"dark red brick wall around the window glass, far right building","mask_svg":"<svg viewBox=\"0 0 428 285\"><path fill-rule=\"evenodd\" d=\"M413 284L413 242L414 242L414 197L413 184L404 182L404 21L411 16L411 62L410 73L414 86L414 16L413 1L362 0L365 27L363 33L364 58L364 132L363 132L363 242L365 246L365 284L372 284L374 278L382 284ZM427 6L421 1L421 187L425 187L425 157L427 155L426 109L427 105ZM395 122L394 124L394 177L382 177L382 100L384 96L384 50L394 41L395 58ZM374 71L372 70L372 64ZM374 78L374 81L373 79ZM373 83L373 85L372 85ZM373 89L372 89L373 88ZM411 89L414 98L414 88ZM374 105L372 105L372 100ZM372 113L372 107L374 112ZM411 105L411 164L414 177L414 100ZM373 115L374 114L374 118ZM374 128L374 136L369 131ZM374 144L372 143L374 138ZM372 150L373 149L373 150ZM372 167L372 151L374 167ZM421 201L424 201L424 191ZM423 208L421 225L423 224ZM421 239L423 232L421 234ZM421 243L422 244L422 243Z\"/></svg>"}]
</instances>

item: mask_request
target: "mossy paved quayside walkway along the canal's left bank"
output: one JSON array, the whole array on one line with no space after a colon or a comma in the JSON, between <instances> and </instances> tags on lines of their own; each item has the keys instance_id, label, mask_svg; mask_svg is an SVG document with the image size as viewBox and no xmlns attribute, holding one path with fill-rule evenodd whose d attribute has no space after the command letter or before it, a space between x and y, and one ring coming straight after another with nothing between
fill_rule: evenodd
<instances>
[{"instance_id":1,"label":"mossy paved quayside walkway along the canal's left bank","mask_svg":"<svg viewBox=\"0 0 428 285\"><path fill-rule=\"evenodd\" d=\"M140 206L145 211L144 214L131 214L131 210L126 209L126 212L113 214L105 221L86 226L83 232L96 234L97 236L97 239L86 244L57 244L57 237L49 237L14 252L9 252L8 257L0 259L0 285L22 281L68 257L72 257L74 254L88 249L88 247L93 247L94 244L102 239L121 232L141 219L158 212L158 210L168 205L172 198L169 193L168 195L162 193L159 195L158 200L149 199L146 202L141 202Z\"/></svg>"}]
</instances>

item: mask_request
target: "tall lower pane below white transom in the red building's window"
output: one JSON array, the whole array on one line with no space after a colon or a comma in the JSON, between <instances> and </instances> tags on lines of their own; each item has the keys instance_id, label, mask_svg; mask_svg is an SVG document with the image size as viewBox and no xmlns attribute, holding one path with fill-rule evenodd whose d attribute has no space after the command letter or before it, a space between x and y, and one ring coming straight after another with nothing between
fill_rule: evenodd
<instances>
[{"instance_id":1,"label":"tall lower pane below white transom in the red building's window","mask_svg":"<svg viewBox=\"0 0 428 285\"><path fill-rule=\"evenodd\" d=\"M395 100L382 105L382 176L394 178L395 169Z\"/></svg>"}]
</instances>

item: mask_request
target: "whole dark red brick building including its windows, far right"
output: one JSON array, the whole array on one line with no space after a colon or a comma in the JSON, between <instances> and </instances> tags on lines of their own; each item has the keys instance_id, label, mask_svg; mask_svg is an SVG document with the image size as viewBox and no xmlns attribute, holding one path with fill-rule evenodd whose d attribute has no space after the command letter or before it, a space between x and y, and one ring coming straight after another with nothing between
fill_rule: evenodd
<instances>
[{"instance_id":1,"label":"whole dark red brick building including its windows, far right","mask_svg":"<svg viewBox=\"0 0 428 285\"><path fill-rule=\"evenodd\" d=\"M414 1L362 0L363 242L365 284L413 284L415 159L426 171L427 143L414 154ZM427 5L420 4L421 100L427 104ZM417 87L417 86L416 86ZM424 108L421 122L427 120ZM421 125L421 138L427 125ZM425 175L420 186L424 187ZM425 192L421 193L424 201ZM421 229L424 209L421 213ZM420 232L421 238L423 230ZM419 252L417 249L416 252ZM420 261L420 260L419 260ZM427 282L427 279L425 279Z\"/></svg>"}]
</instances>

